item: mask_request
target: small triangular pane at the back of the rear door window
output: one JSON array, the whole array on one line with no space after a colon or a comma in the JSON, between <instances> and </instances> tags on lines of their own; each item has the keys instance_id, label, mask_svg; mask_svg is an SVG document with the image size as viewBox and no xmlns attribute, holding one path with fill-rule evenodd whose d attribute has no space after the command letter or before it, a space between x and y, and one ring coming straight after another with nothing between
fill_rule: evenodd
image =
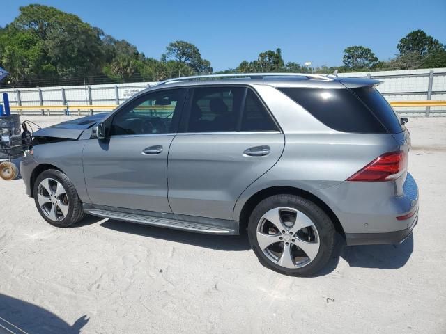
<instances>
[{"instance_id":1,"label":"small triangular pane at the back of the rear door window","mask_svg":"<svg viewBox=\"0 0 446 334\"><path fill-rule=\"evenodd\" d=\"M247 91L241 131L277 130L274 120L252 90Z\"/></svg>"}]
</instances>

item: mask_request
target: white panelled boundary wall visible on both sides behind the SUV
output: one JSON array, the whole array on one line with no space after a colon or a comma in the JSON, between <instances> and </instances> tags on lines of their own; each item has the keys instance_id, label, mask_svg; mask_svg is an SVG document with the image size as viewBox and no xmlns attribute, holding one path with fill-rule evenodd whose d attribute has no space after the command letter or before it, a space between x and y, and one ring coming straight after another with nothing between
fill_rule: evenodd
<instances>
[{"instance_id":1,"label":"white panelled boundary wall visible on both sides behind the SUV","mask_svg":"<svg viewBox=\"0 0 446 334\"><path fill-rule=\"evenodd\" d=\"M431 74L431 71L433 72ZM389 101L428 100L429 75L432 75L431 100L446 100L446 68L423 70L401 70L381 72L340 73L339 77L371 77L383 81L378 90ZM90 113L89 110L70 109L70 105L108 105L121 104L140 90L153 86L156 82L138 82L129 84L105 84L92 86L63 86L42 88L19 88L0 90L8 93L12 106L36 106L42 108L23 111L24 114L63 114L61 109L47 109L45 106L68 105L70 113ZM64 98L65 95L65 98ZM0 95L0 103L3 96ZM398 107L401 114L424 115L426 107ZM104 112L94 109L93 112ZM14 111L16 112L16 111ZM431 106L431 115L445 115L446 107Z\"/></svg>"}]
</instances>

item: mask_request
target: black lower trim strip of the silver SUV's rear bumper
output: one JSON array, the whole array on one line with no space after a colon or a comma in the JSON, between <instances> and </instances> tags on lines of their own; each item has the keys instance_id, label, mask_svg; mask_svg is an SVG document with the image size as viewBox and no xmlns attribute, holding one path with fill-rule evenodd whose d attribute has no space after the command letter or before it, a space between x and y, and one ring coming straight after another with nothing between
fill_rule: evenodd
<instances>
[{"instance_id":1,"label":"black lower trim strip of the silver SUV's rear bumper","mask_svg":"<svg viewBox=\"0 0 446 334\"><path fill-rule=\"evenodd\" d=\"M346 233L347 246L401 244L412 233L418 223L418 212L410 228L384 233Z\"/></svg>"}]
</instances>

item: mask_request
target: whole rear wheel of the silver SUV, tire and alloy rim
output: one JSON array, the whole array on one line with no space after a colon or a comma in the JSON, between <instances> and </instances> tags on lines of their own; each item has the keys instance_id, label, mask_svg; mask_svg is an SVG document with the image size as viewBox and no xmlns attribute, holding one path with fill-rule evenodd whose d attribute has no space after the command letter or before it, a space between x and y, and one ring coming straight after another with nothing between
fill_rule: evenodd
<instances>
[{"instance_id":1,"label":"whole rear wheel of the silver SUV, tire and alloy rim","mask_svg":"<svg viewBox=\"0 0 446 334\"><path fill-rule=\"evenodd\" d=\"M334 253L334 225L314 202L293 195L275 195L257 205L248 237L261 264L291 276L311 276Z\"/></svg>"}]
</instances>

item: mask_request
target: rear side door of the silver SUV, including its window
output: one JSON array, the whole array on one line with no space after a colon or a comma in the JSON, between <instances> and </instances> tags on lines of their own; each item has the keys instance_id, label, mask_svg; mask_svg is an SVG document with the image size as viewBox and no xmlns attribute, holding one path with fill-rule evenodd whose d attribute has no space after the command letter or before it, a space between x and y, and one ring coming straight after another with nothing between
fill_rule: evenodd
<instances>
[{"instance_id":1,"label":"rear side door of the silver SUV, including its window","mask_svg":"<svg viewBox=\"0 0 446 334\"><path fill-rule=\"evenodd\" d=\"M185 105L169 151L172 212L233 219L238 196L279 159L284 135L252 88L196 87Z\"/></svg>"}]
</instances>

